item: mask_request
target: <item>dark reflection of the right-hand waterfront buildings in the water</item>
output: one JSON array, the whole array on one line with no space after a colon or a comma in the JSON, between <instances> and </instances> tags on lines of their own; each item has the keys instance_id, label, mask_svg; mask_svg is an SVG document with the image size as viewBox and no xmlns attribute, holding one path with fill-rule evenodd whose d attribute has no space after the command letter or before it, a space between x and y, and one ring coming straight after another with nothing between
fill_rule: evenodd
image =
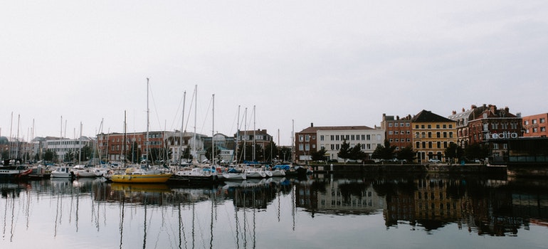
<instances>
[{"instance_id":1,"label":"dark reflection of the right-hand waterfront buildings in the water","mask_svg":"<svg viewBox=\"0 0 548 249\"><path fill-rule=\"evenodd\" d=\"M315 213L382 212L387 228L407 223L427 232L456 223L478 235L516 235L548 225L548 186L447 176L295 181L296 205Z\"/></svg>"}]
</instances>

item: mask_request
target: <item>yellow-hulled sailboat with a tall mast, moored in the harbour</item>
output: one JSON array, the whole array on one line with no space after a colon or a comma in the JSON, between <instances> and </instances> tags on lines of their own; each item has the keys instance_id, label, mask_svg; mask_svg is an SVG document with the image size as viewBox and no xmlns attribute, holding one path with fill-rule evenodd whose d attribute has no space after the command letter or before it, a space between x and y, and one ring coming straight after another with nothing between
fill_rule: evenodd
<instances>
[{"instance_id":1,"label":"yellow-hulled sailboat with a tall mast, moored in the harbour","mask_svg":"<svg viewBox=\"0 0 548 249\"><path fill-rule=\"evenodd\" d=\"M148 166L148 144L149 144L149 78L147 78L147 166ZM162 173L157 170L132 169L128 168L122 174L113 174L110 181L125 184L163 184L171 173Z\"/></svg>"}]
</instances>

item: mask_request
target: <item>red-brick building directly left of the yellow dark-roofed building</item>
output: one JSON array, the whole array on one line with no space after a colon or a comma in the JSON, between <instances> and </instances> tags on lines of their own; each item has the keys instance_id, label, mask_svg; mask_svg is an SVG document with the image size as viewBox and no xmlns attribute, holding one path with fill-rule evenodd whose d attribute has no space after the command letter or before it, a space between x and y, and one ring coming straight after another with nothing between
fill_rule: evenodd
<instances>
[{"instance_id":1,"label":"red-brick building directly left of the yellow dark-roofed building","mask_svg":"<svg viewBox=\"0 0 548 249\"><path fill-rule=\"evenodd\" d=\"M400 119L399 116L394 118L394 116L388 116L383 113L381 129L384 129L386 133L384 135L390 146L396 147L396 152L408 146L412 147L411 115Z\"/></svg>"}]
</instances>

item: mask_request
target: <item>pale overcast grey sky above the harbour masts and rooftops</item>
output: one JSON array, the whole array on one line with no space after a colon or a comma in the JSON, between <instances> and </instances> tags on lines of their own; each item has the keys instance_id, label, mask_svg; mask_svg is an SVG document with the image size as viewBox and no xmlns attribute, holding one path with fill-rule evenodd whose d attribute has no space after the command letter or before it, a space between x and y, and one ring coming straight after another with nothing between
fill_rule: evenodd
<instances>
[{"instance_id":1,"label":"pale overcast grey sky above the harbour masts and rooftops","mask_svg":"<svg viewBox=\"0 0 548 249\"><path fill-rule=\"evenodd\" d=\"M3 1L2 136L308 127L493 104L548 112L548 1ZM189 110L198 85L197 117ZM253 106L256 106L253 124ZM13 121L11 115L13 113ZM61 121L61 116L63 121ZM18 118L20 117L20 119ZM242 123L242 122L241 122ZM61 126L63 126L61 128ZM243 124L241 124L243 129ZM280 132L278 133L278 129Z\"/></svg>"}]
</instances>

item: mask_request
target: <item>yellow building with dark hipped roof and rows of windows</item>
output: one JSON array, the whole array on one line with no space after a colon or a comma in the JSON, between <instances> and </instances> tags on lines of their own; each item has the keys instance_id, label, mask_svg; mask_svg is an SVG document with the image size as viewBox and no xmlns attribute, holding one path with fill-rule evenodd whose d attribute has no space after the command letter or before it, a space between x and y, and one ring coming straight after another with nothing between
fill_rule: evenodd
<instances>
[{"instance_id":1,"label":"yellow building with dark hipped roof and rows of windows","mask_svg":"<svg viewBox=\"0 0 548 249\"><path fill-rule=\"evenodd\" d=\"M446 161L445 150L451 143L457 142L456 122L422 110L411 119L411 125L417 161Z\"/></svg>"}]
</instances>

